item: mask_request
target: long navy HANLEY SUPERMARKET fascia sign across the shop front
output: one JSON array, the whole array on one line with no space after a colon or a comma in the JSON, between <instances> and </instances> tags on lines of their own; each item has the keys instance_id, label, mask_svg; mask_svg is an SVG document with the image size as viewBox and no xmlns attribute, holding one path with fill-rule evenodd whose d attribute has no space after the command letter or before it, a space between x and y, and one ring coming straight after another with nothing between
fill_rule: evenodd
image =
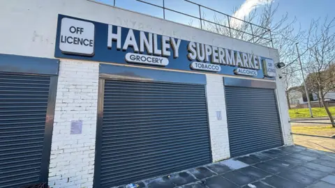
<instances>
[{"instance_id":1,"label":"long navy HANLEY SUPERMARKET fascia sign across the shop front","mask_svg":"<svg viewBox=\"0 0 335 188\"><path fill-rule=\"evenodd\" d=\"M59 15L54 56L222 75L276 77L274 61L257 54L65 15Z\"/></svg>"}]
</instances>

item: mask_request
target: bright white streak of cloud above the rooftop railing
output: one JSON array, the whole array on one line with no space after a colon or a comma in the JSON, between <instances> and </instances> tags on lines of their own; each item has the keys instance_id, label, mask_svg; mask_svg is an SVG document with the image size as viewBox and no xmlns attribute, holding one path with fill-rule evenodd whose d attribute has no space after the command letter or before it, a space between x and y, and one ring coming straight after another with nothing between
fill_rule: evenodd
<instances>
[{"instance_id":1,"label":"bright white streak of cloud above the rooftop railing","mask_svg":"<svg viewBox=\"0 0 335 188\"><path fill-rule=\"evenodd\" d=\"M232 15L233 17L237 17L239 19L244 19L244 17L248 17L248 15L258 6L265 5L267 3L272 3L274 0L246 0L244 3L235 11ZM231 20L232 27L239 27L242 22L239 22L237 19Z\"/></svg>"}]
</instances>

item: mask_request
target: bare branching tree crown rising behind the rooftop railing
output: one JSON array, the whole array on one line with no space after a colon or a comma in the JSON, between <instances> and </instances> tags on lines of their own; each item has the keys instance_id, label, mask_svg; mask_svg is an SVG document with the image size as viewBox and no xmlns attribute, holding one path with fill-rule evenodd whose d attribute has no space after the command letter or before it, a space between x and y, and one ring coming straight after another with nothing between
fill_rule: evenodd
<instances>
[{"instance_id":1,"label":"bare branching tree crown rising behind the rooftop railing","mask_svg":"<svg viewBox=\"0 0 335 188\"><path fill-rule=\"evenodd\" d=\"M297 58L295 42L304 40L305 31L297 29L295 25L297 19L295 17L289 19L288 13L282 15L281 19L276 19L275 22L274 16L278 14L278 6L279 4L274 7L273 3L267 3L262 8L255 8L244 19L234 17L228 19L226 16L214 14L213 19L216 24L204 21L202 29L258 45L274 47L278 49L281 61L292 62ZM237 8L233 11L236 12ZM206 19L206 15L202 14L202 18ZM270 38L272 41L269 40ZM295 65L297 64L295 63Z\"/></svg>"}]
</instances>

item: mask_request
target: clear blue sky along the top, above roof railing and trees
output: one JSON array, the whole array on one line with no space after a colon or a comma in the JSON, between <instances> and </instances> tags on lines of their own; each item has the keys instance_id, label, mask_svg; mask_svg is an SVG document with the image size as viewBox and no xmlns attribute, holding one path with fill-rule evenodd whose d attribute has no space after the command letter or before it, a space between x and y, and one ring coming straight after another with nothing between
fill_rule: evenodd
<instances>
[{"instance_id":1,"label":"clear blue sky along the top, above roof railing and trees","mask_svg":"<svg viewBox=\"0 0 335 188\"><path fill-rule=\"evenodd\" d=\"M98 0L103 3L112 4L114 0ZM144 0L150 3L155 3L163 6L163 0ZM228 15L233 14L233 9L244 3L245 0L193 0L195 3L200 3L209 8L221 11ZM335 1L334 0L275 0L275 5L279 3L278 13L275 19L279 19L285 13L288 13L289 17L293 19L297 17L297 26L301 24L301 29L308 29L311 19L318 19L319 17L329 18L335 17ZM126 8L128 10L134 10L136 12L153 15L156 17L163 17L163 11L161 8L155 8L153 6L146 5L144 3L135 0L116 0L116 6ZM173 10L178 10L189 15L198 16L198 6L192 5L184 0L165 0L165 6ZM213 14L208 10L203 10L207 15L207 19L213 17ZM188 24L191 21L190 17L183 15L177 15L167 11L165 17L175 22L181 22ZM198 23L193 24L197 25Z\"/></svg>"}]
</instances>

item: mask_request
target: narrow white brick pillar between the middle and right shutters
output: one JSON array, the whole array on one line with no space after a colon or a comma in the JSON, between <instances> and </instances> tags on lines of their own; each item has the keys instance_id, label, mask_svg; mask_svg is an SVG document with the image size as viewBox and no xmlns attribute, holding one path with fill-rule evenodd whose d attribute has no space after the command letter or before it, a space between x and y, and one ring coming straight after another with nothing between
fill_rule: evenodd
<instances>
[{"instance_id":1,"label":"narrow white brick pillar between the middle and right shutters","mask_svg":"<svg viewBox=\"0 0 335 188\"><path fill-rule=\"evenodd\" d=\"M213 161L216 162L230 157L225 91L221 75L206 75L206 77L211 154ZM218 120L216 111L221 111L222 120Z\"/></svg>"}]
</instances>

